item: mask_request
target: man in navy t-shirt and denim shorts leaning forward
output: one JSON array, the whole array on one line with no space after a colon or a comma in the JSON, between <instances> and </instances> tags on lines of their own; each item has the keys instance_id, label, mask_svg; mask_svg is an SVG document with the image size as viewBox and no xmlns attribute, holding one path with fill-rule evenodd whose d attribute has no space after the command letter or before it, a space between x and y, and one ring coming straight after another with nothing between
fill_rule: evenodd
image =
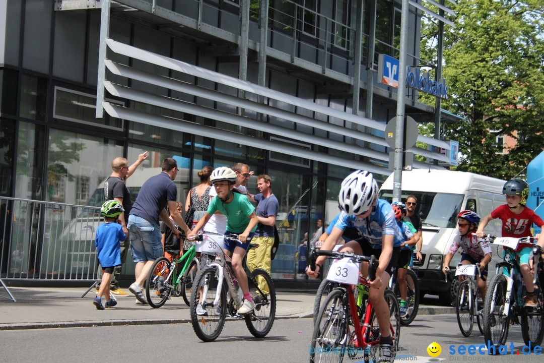
<instances>
[{"instance_id":1,"label":"man in navy t-shirt and denim shorts leaning forward","mask_svg":"<svg viewBox=\"0 0 544 363\"><path fill-rule=\"evenodd\" d=\"M153 261L163 256L163 245L160 243L159 217L170 227L172 233L180 237L181 233L174 226L175 222L187 234L189 227L180 212L176 208L177 188L174 183L178 173L177 162L172 158L163 160L162 172L150 177L141 186L136 201L128 216L127 229L130 231L132 259L136 263L136 281L128 288L138 301L147 305L147 300L142 293L142 286ZM170 215L165 207L168 205Z\"/></svg>"}]
</instances>

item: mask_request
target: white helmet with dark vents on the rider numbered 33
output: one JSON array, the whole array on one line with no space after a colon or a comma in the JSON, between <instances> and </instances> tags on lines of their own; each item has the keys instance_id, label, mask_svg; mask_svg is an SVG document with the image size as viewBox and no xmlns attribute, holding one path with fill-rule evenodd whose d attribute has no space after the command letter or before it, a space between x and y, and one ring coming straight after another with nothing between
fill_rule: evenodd
<instances>
[{"instance_id":1,"label":"white helmet with dark vents on the rider numbered 33","mask_svg":"<svg viewBox=\"0 0 544 363\"><path fill-rule=\"evenodd\" d=\"M338 194L340 208L351 216L367 212L378 194L378 183L371 173L357 170L342 182Z\"/></svg>"}]
</instances>

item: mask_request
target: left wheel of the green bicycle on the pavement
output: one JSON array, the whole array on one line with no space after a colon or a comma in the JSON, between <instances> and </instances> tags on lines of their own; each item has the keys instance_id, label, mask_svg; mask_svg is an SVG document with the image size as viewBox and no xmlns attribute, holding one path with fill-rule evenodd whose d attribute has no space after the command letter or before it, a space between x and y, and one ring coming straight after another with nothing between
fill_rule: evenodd
<instances>
[{"instance_id":1,"label":"left wheel of the green bicycle on the pavement","mask_svg":"<svg viewBox=\"0 0 544 363\"><path fill-rule=\"evenodd\" d=\"M164 305L172 291L172 274L170 274L170 261L166 257L159 257L147 275L145 295L147 302L154 308Z\"/></svg>"}]
</instances>

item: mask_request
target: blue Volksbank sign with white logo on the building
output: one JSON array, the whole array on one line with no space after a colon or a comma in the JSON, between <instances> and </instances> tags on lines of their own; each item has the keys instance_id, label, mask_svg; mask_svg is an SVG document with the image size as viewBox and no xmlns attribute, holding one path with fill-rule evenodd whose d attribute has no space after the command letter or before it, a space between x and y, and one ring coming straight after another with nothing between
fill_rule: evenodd
<instances>
[{"instance_id":1,"label":"blue Volksbank sign with white logo on the building","mask_svg":"<svg viewBox=\"0 0 544 363\"><path fill-rule=\"evenodd\" d=\"M380 54L378 58L378 82L391 87L399 86L399 60L386 54ZM417 67L406 67L406 87L431 94L441 99L448 99L448 86L446 80L432 81L428 72L421 72Z\"/></svg>"}]
</instances>

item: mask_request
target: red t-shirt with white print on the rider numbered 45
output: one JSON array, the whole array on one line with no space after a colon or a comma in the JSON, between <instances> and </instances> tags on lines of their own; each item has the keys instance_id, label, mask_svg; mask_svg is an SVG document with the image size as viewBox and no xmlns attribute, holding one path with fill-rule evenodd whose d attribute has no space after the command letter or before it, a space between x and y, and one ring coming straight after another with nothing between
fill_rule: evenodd
<instances>
[{"instance_id":1,"label":"red t-shirt with white print on the rider numbered 45","mask_svg":"<svg viewBox=\"0 0 544 363\"><path fill-rule=\"evenodd\" d=\"M530 208L524 207L520 214L514 214L510 211L507 204L499 206L491 212L492 218L499 218L503 222L503 237L528 237L531 236L531 226L536 224L537 226L544 225L542 218ZM518 245L516 252L520 251L524 247L530 247L531 244L522 243Z\"/></svg>"}]
</instances>

